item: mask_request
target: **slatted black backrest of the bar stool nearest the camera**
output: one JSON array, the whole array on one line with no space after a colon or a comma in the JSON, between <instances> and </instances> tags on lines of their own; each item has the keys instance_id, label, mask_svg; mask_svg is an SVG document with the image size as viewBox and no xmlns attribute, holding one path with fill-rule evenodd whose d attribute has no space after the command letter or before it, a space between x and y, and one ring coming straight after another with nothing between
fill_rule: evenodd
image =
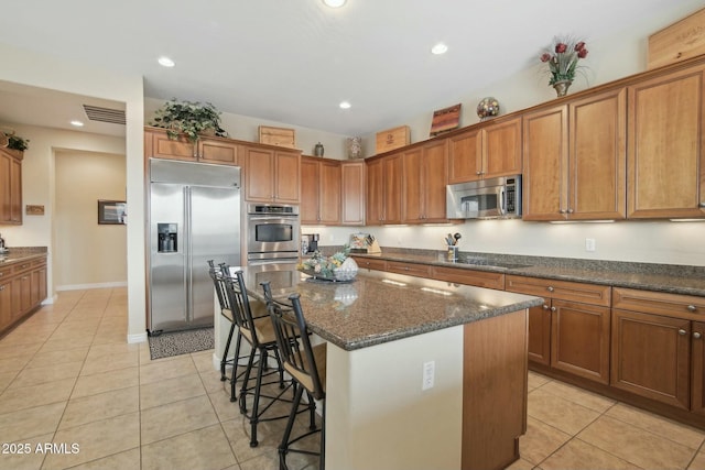
<instances>
[{"instance_id":1,"label":"slatted black backrest of the bar stool nearest the camera","mask_svg":"<svg viewBox=\"0 0 705 470\"><path fill-rule=\"evenodd\" d=\"M267 308L272 318L279 352L284 361L284 370L303 385L316 400L325 397L325 389L316 367L316 359L308 338L299 294L289 296L291 305L276 302L272 297L269 282L262 283Z\"/></svg>"}]
</instances>

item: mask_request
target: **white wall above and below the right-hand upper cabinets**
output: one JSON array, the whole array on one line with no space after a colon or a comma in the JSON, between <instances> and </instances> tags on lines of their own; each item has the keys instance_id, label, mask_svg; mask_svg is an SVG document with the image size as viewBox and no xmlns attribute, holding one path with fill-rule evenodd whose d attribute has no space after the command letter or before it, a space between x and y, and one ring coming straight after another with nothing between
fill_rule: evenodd
<instances>
[{"instance_id":1,"label":"white wall above and below the right-hand upper cabinets","mask_svg":"<svg viewBox=\"0 0 705 470\"><path fill-rule=\"evenodd\" d=\"M702 7L702 1L673 2L668 17L641 19L636 28L618 31L614 36L601 41L590 41L586 37L589 56L584 64L588 67L588 83L577 78L568 94L646 70L649 35ZM547 30L547 42L553 34L555 33ZM456 102L463 102L462 125L479 122L475 109L486 96L494 96L499 100L501 114L555 99L555 91L547 86L545 75L540 73L538 55L532 63L535 64L516 76L458 97ZM498 66L501 66L500 58ZM478 73L481 73L481 69L478 69ZM440 103L438 108L451 105L453 103ZM412 142L423 141L427 139L431 129L432 113L433 110L429 110L423 116L410 117L399 124L411 127ZM373 134L365 138L366 155L373 153ZM705 265L705 222L622 221L606 225L554 225L477 220L446 227L304 228L305 233L322 233L322 245L343 244L348 241L350 233L357 231L373 233L382 247L443 250L443 237L449 231L458 231L463 234L459 243L462 251ZM586 238L596 239L595 252L585 251Z\"/></svg>"}]
</instances>

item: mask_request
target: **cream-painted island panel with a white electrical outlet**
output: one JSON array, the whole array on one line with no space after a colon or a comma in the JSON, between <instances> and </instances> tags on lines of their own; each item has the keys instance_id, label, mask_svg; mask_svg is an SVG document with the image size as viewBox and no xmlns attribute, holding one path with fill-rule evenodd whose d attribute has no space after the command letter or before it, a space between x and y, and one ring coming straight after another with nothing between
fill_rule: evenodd
<instances>
[{"instance_id":1,"label":"cream-painted island panel with a white electrical outlet","mask_svg":"<svg viewBox=\"0 0 705 470\"><path fill-rule=\"evenodd\" d=\"M423 364L435 361L422 391ZM326 468L457 470L463 326L355 351L327 345Z\"/></svg>"}]
</instances>

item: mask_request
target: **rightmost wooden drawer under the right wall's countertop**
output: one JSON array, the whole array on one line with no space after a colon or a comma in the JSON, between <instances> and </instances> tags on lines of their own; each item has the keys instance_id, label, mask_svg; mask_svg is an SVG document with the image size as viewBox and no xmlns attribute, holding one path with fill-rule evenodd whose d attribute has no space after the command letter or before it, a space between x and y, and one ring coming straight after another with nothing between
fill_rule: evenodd
<instances>
[{"instance_id":1,"label":"rightmost wooden drawer under the right wall's countertop","mask_svg":"<svg viewBox=\"0 0 705 470\"><path fill-rule=\"evenodd\" d=\"M705 319L704 297L621 287L615 287L614 292L612 308L657 315L673 315L695 320Z\"/></svg>"}]
</instances>

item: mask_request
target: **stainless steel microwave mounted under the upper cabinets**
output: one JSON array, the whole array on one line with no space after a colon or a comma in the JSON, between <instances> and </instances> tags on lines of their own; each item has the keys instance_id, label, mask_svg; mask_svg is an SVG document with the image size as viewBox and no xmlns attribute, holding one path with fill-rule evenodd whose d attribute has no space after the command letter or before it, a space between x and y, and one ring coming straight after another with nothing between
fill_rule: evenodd
<instances>
[{"instance_id":1,"label":"stainless steel microwave mounted under the upper cabinets","mask_svg":"<svg viewBox=\"0 0 705 470\"><path fill-rule=\"evenodd\" d=\"M521 175L446 186L448 219L521 217Z\"/></svg>"}]
</instances>

